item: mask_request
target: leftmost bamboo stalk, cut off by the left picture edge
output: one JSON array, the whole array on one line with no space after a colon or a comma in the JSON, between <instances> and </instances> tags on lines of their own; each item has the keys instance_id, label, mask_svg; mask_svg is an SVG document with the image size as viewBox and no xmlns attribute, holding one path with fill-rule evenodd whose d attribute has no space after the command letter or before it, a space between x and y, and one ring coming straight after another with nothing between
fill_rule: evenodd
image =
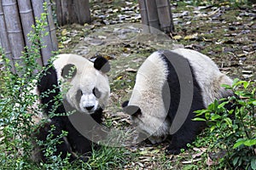
<instances>
[{"instance_id":1,"label":"leftmost bamboo stalk, cut off by the left picture edge","mask_svg":"<svg viewBox=\"0 0 256 170\"><path fill-rule=\"evenodd\" d=\"M5 19L4 19L4 14L3 14L3 6L2 6L2 0L0 0L0 43L2 48L4 49L4 54L10 61L10 66L11 66L11 71L16 73L15 71L15 65L13 61L13 55L11 52L11 48L9 46L9 39L7 36L7 30L6 30L6 25L5 25Z\"/></svg>"}]
</instances>

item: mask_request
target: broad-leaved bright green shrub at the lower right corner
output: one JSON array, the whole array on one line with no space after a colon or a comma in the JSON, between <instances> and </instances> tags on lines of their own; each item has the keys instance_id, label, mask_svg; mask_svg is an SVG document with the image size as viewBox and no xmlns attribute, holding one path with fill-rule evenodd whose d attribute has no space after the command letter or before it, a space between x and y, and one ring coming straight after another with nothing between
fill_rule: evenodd
<instances>
[{"instance_id":1,"label":"broad-leaved bright green shrub at the lower right corner","mask_svg":"<svg viewBox=\"0 0 256 170\"><path fill-rule=\"evenodd\" d=\"M235 79L232 87L224 86L236 94L229 99L214 101L207 110L196 111L195 120L207 121L210 135L207 142L211 150L225 150L219 159L220 167L255 169L256 122L255 122L255 82ZM234 109L225 105L232 103Z\"/></svg>"}]
</instances>

